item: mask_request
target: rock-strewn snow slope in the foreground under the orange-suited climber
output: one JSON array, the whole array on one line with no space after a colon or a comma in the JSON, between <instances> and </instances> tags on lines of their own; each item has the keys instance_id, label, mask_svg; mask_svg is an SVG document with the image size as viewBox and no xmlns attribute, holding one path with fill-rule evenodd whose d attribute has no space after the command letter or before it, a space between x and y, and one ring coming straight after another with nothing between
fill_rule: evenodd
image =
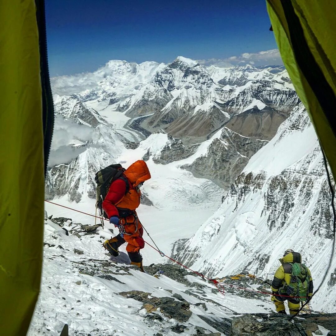
<instances>
[{"instance_id":1,"label":"rock-strewn snow slope in the foreground under the orange-suited climber","mask_svg":"<svg viewBox=\"0 0 336 336\"><path fill-rule=\"evenodd\" d=\"M271 303L265 298L251 298L246 305L245 298L212 291L213 285L191 275L185 276L188 285L164 274L155 278L132 266L116 264L101 249L101 241L111 234L108 229L99 229L97 235L82 234L79 238L71 234L72 229L78 228L76 224L66 222L63 227L70 232L69 236L57 224L46 220L42 288L29 336L58 336L65 323L69 325L69 335L74 336L153 335L156 332L173 336L176 332L171 328L177 325L186 327L181 335L187 336L195 335L197 326L206 333L218 332L200 316L218 321L232 317L235 311L271 311ZM74 253L74 249L83 254ZM127 262L127 255L121 254ZM179 294L191 304L191 317L181 323L160 311L148 314L141 309L139 301L118 294L134 290L150 293L149 298ZM157 314L159 320L155 319Z\"/></svg>"}]
</instances>

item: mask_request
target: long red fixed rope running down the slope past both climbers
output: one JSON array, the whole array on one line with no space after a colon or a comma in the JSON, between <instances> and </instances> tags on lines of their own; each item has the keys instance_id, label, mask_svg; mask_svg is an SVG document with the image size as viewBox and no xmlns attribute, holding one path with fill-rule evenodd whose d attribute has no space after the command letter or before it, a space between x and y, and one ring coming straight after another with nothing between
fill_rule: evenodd
<instances>
[{"instance_id":1,"label":"long red fixed rope running down the slope past both climbers","mask_svg":"<svg viewBox=\"0 0 336 336\"><path fill-rule=\"evenodd\" d=\"M58 205L60 207L63 207L63 208L66 208L66 209L69 209L69 210L73 210L73 211L77 211L77 212L80 212L84 215L88 215L88 216L92 216L92 217L96 217L96 218L100 218L98 216L95 216L95 215L91 215L89 213L86 213L86 212L83 212L83 211L79 211L79 210L76 210L76 209L73 209L73 208L69 208L69 207L66 207L64 205L61 205L61 204L57 204L57 203L53 203L53 202L50 202L50 201L47 201L47 200L44 200L45 202L48 202L48 203L51 203L51 204L54 204L54 205ZM106 220L103 218L103 220ZM178 262L177 260L167 256L166 254L164 254L162 251L159 251L157 248L155 248L154 246L152 246L151 244L147 243L146 241L144 241L147 245L149 245L151 248L153 248L154 250L158 251L160 254L162 253L165 257L167 257L168 259L170 259L171 261L179 264L180 266L190 270L191 272L195 273L196 275L198 275L199 277L203 278L204 280L208 280L210 282L213 283L213 285L218 289L218 291L224 295L224 288L223 287L230 287L230 288L237 288L239 290L244 290L244 291L247 291L247 292L254 292L254 293L259 293L259 294L266 294L266 295L271 295L273 296L274 294L271 294L271 293L267 293L267 292L262 292L262 291L257 291L257 290L254 290L254 289L250 289L250 288L245 288L245 287L239 287L239 286L235 286L235 285L228 285L228 284L223 284L223 283L220 283L219 281L217 281L216 279L210 279L208 277L206 277L205 275L203 275L202 273L198 272L198 271L194 271L193 269L183 265L182 263ZM289 295L279 295L280 297L286 297L286 298L306 298L306 296L289 296Z\"/></svg>"}]
</instances>

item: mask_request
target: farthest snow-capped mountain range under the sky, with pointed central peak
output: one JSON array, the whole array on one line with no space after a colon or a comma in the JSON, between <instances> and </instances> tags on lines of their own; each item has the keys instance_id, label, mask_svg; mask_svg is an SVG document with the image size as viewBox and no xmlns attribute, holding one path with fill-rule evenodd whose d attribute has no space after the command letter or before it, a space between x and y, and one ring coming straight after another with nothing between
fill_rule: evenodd
<instances>
[{"instance_id":1,"label":"farthest snow-capped mountain range under the sky, with pointed central peak","mask_svg":"<svg viewBox=\"0 0 336 336\"><path fill-rule=\"evenodd\" d=\"M256 124L256 136L260 128L259 138L270 139L297 105L298 98L285 70L276 74L269 70L252 66L205 68L197 61L179 56L168 65L109 61L95 73L57 77L52 83L55 93L68 93L68 98L61 98L62 106L67 99L71 100L70 105L79 100L96 110L103 106L106 112L142 117L135 128L140 132L147 130L141 132L147 136L148 132L164 129L185 143L197 143L233 116L244 113L244 121L253 115L246 123ZM61 107L57 106L57 112L62 113ZM270 131L268 120L267 130L263 130L268 115L273 125ZM238 131L237 127L234 131Z\"/></svg>"}]
</instances>

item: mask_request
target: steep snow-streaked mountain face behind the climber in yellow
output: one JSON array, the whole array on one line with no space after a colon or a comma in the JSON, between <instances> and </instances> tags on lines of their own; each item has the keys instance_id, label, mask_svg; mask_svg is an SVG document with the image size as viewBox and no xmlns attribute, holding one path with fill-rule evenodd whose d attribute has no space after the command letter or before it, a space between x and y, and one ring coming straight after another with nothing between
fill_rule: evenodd
<instances>
[{"instance_id":1,"label":"steep snow-streaked mountain face behind the climber in yellow","mask_svg":"<svg viewBox=\"0 0 336 336\"><path fill-rule=\"evenodd\" d=\"M331 253L331 195L319 143L301 109L259 150L224 194L223 203L174 255L210 276L274 274L287 248L302 253L316 285ZM335 309L334 261L313 307ZM328 281L329 280L329 281ZM331 287L333 286L333 287Z\"/></svg>"}]
</instances>

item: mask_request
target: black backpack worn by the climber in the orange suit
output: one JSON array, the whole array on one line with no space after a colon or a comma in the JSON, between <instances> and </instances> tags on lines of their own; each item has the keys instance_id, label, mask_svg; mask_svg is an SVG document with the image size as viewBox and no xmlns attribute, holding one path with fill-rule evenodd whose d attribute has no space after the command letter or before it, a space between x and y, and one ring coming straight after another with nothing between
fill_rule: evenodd
<instances>
[{"instance_id":1,"label":"black backpack worn by the climber in the orange suit","mask_svg":"<svg viewBox=\"0 0 336 336\"><path fill-rule=\"evenodd\" d=\"M109 192L111 183L115 180L122 179L126 182L126 192L125 195L129 191L129 182L127 178L123 175L126 169L122 167L121 164L115 164L107 166L106 168L99 170L96 173L95 181L97 183L97 200L96 207L99 209L99 213L104 216L104 218L108 219L107 214L104 212L102 208L103 200L105 199L107 193Z\"/></svg>"}]
</instances>

